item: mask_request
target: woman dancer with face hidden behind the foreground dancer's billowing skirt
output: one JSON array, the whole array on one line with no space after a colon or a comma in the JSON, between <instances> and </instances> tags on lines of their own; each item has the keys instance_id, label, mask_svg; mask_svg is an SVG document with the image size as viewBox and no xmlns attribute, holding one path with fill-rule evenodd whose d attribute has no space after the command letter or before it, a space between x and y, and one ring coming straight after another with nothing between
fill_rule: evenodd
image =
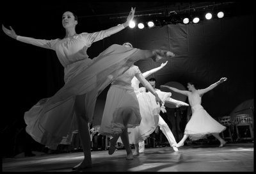
<instances>
[{"instance_id":1,"label":"woman dancer with face hidden behind the foreground dancer's billowing skirt","mask_svg":"<svg viewBox=\"0 0 256 174\"><path fill-rule=\"evenodd\" d=\"M124 45L126 47L132 47L131 43L124 43ZM110 140L109 155L115 152L115 145L120 137L127 152L126 159L133 159L127 128L136 127L140 125L141 122L138 99L131 86L131 80L134 76L154 95L155 102L159 103L160 106L162 105L162 101L159 99L156 91L154 91L152 86L141 74L140 69L135 65L132 65L129 70L111 83L99 134L113 137Z\"/></svg>"}]
</instances>

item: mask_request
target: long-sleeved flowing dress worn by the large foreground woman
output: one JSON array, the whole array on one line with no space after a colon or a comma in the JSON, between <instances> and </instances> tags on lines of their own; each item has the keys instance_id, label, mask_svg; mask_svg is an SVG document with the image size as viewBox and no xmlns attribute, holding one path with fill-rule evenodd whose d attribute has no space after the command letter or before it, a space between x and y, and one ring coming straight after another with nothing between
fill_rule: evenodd
<instances>
[{"instance_id":1,"label":"long-sleeved flowing dress worn by the large foreground woman","mask_svg":"<svg viewBox=\"0 0 256 174\"><path fill-rule=\"evenodd\" d=\"M92 122L97 96L113 79L129 69L148 52L111 45L94 59L89 59L86 50L93 42L124 29L123 25L95 33L55 40L39 40L17 36L17 40L56 51L64 67L65 85L57 93L42 99L24 114L26 131L38 143L56 149L63 136L77 130L74 102L76 95L86 93L84 120ZM137 60L138 60L137 59Z\"/></svg>"}]
</instances>

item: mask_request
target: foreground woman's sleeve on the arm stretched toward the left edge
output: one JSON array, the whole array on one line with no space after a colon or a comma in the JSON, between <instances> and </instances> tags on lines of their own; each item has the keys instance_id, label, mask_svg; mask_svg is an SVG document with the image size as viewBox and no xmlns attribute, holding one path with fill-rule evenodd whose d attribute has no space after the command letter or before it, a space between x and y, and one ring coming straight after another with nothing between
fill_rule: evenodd
<instances>
[{"instance_id":1,"label":"foreground woman's sleeve on the arm stretched toward the left edge","mask_svg":"<svg viewBox=\"0 0 256 174\"><path fill-rule=\"evenodd\" d=\"M43 47L45 49L53 49L55 50L55 45L59 39L55 40L43 40L43 39L35 39L24 36L17 36L17 40L24 43L29 43L38 47Z\"/></svg>"}]
</instances>

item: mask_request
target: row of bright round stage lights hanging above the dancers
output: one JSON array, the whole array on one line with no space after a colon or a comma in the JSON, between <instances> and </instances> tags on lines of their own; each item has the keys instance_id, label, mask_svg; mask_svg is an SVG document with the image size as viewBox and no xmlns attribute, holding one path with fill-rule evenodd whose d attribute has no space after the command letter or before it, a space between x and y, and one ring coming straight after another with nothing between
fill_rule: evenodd
<instances>
[{"instance_id":1,"label":"row of bright round stage lights hanging above the dancers","mask_svg":"<svg viewBox=\"0 0 256 174\"><path fill-rule=\"evenodd\" d=\"M223 17L224 17L224 13L223 13L223 12L218 12L218 13L217 13L217 17L218 17L219 19L220 19L220 18L223 18ZM205 14L205 19L207 19L207 20L212 19L212 13L206 13L206 14ZM182 21L183 21L183 24L188 24L188 23L189 23L189 18L188 18L188 17L185 17ZM197 23L200 21L200 18L199 18L199 17L194 17L192 21L193 21L194 24L197 24ZM118 24L118 25L120 25L120 24ZM129 27L130 27L130 28L134 28L135 26L136 26L136 23L134 22L134 20L132 20L132 21L129 23ZM154 24L154 22L151 20L151 21L147 22L147 26L148 26L148 28L152 28L152 27L155 26L155 24ZM140 23L138 24L138 28L143 29L143 28L145 28L145 25L140 22Z\"/></svg>"}]
</instances>

